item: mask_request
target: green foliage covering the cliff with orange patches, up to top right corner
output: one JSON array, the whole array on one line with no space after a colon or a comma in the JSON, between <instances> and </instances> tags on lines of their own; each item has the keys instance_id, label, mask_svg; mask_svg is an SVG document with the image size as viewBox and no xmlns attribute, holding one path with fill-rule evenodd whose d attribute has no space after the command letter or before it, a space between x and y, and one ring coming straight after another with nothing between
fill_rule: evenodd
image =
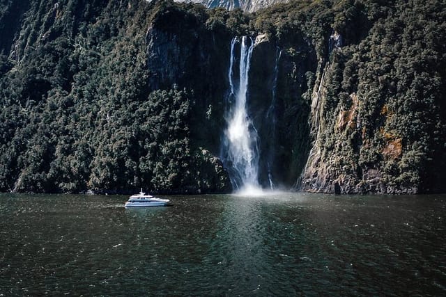
<instances>
[{"instance_id":1,"label":"green foliage covering the cliff with orange patches, up to top right corner","mask_svg":"<svg viewBox=\"0 0 446 297\"><path fill-rule=\"evenodd\" d=\"M361 168L351 174L358 181L360 172L382 170L380 178L393 193L443 191L438 176L446 165L445 3L394 1L378 7L376 1L339 1L334 10L333 28L344 32L347 45L332 53L326 73L323 125L332 128L321 136L325 158L350 158L348 163ZM373 22L367 24L365 15ZM348 38L349 23L370 29ZM343 94L359 100L353 131L335 125L351 109ZM342 140L346 134L351 143Z\"/></svg>"}]
</instances>

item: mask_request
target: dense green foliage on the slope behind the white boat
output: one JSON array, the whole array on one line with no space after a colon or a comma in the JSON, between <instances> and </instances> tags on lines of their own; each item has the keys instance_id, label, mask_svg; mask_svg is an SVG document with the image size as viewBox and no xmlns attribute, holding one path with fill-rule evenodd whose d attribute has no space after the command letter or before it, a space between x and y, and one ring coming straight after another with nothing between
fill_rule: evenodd
<instances>
[{"instance_id":1,"label":"dense green foliage on the slope behind the white boat","mask_svg":"<svg viewBox=\"0 0 446 297\"><path fill-rule=\"evenodd\" d=\"M16 65L0 56L0 191L222 191L229 181L209 182L221 165L191 145L190 95L148 85L146 27L160 15L107 2L33 3L22 31L32 47L17 41ZM166 17L205 22L203 7L185 7Z\"/></svg>"}]
</instances>

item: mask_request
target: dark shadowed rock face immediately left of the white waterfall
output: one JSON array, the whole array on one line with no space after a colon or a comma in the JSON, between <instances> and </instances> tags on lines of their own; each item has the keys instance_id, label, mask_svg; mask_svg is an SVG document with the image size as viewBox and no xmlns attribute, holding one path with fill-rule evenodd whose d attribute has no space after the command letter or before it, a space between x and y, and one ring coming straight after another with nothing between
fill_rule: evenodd
<instances>
[{"instance_id":1,"label":"dark shadowed rock face immediately left of the white waterfall","mask_svg":"<svg viewBox=\"0 0 446 297\"><path fill-rule=\"evenodd\" d=\"M206 29L196 16L172 7L146 33L151 89L193 90L192 138L218 155L229 82L231 35Z\"/></svg>"}]
</instances>

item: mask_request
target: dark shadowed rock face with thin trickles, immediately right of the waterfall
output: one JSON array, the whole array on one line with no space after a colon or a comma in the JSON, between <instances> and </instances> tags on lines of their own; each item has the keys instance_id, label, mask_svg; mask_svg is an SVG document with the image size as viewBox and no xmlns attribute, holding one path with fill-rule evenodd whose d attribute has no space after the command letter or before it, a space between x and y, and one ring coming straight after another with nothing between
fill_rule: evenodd
<instances>
[{"instance_id":1,"label":"dark shadowed rock face with thin trickles, immediately right of the waterfall","mask_svg":"<svg viewBox=\"0 0 446 297\"><path fill-rule=\"evenodd\" d=\"M263 186L293 186L309 146L307 72L316 71L316 52L304 38L295 51L266 35L256 36L249 79L249 110L259 133Z\"/></svg>"}]
</instances>

